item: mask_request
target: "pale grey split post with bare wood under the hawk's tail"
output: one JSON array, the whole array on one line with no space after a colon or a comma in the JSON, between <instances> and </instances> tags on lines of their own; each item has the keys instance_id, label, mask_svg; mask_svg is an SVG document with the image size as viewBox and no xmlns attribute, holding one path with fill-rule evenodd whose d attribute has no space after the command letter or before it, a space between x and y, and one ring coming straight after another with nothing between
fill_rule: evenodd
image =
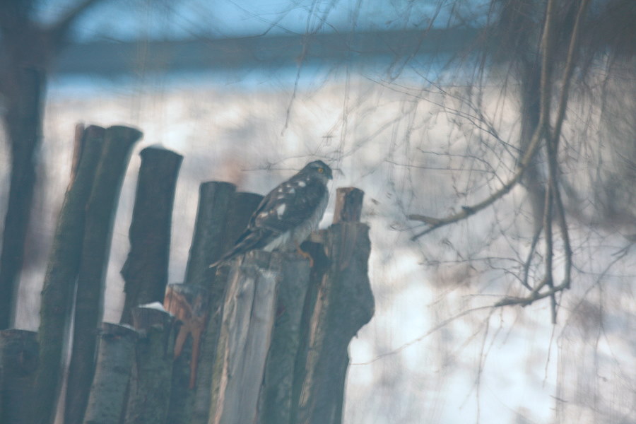
<instances>
[{"instance_id":1,"label":"pale grey split post with bare wood under the hawk's tail","mask_svg":"<svg viewBox=\"0 0 636 424\"><path fill-rule=\"evenodd\" d=\"M210 424L254 423L276 318L278 254L232 261L213 375Z\"/></svg>"}]
</instances>

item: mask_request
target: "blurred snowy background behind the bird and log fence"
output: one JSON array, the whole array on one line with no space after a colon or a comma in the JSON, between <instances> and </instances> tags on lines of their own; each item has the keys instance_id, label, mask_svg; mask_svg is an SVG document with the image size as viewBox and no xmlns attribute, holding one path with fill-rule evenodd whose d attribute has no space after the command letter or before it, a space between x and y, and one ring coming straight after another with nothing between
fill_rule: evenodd
<instances>
[{"instance_id":1,"label":"blurred snowy background behind the bird and log fence","mask_svg":"<svg viewBox=\"0 0 636 424\"><path fill-rule=\"evenodd\" d=\"M144 133L136 153L160 144L184 155L171 282L184 275L201 182L265 194L319 158L338 170L332 194L365 191L376 311L350 346L344 423L636 423L635 2L555 2L547 96L555 125L570 88L556 155L567 239L554 223L546 247L543 150L483 211L422 236L409 218L470 211L514 177L546 91L546 3L1 1L3 217L26 154L14 135L29 131L16 124L25 89L14 70L45 70L32 116L41 129L29 126L35 179L16 328L38 326L75 125L126 124ZM136 153L114 228L110 322L122 306ZM555 286L571 273L570 289L492 307L527 297L548 273Z\"/></svg>"}]
</instances>

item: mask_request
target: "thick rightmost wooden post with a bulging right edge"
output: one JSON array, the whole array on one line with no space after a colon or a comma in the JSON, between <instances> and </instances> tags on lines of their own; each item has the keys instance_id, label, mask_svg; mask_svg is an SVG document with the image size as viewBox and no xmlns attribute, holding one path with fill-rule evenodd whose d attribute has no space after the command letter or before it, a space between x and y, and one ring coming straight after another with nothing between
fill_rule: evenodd
<instances>
[{"instance_id":1,"label":"thick rightmost wooden post with a bulging right edge","mask_svg":"<svg viewBox=\"0 0 636 424\"><path fill-rule=\"evenodd\" d=\"M344 199L338 204L349 204L355 211L355 205L362 204L362 196L355 196L358 200ZM334 215L351 216L340 211ZM310 290L307 294L302 323L305 338L299 353L305 360L304 364L297 362L291 423L341 423L348 344L374 310L367 276L368 230L367 225L341 220L312 237L324 245L329 263L322 276L314 274L320 277L316 293Z\"/></svg>"}]
</instances>

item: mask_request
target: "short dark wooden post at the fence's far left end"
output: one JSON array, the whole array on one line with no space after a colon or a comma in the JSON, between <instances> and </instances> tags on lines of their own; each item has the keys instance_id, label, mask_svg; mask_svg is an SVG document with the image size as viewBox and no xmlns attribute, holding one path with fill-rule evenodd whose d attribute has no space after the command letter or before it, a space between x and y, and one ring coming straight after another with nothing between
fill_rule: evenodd
<instances>
[{"instance_id":1,"label":"short dark wooden post at the fence's far left end","mask_svg":"<svg viewBox=\"0 0 636 424\"><path fill-rule=\"evenodd\" d=\"M30 424L30 409L37 401L31 387L37 368L34 331L0 331L0 423Z\"/></svg>"}]
</instances>

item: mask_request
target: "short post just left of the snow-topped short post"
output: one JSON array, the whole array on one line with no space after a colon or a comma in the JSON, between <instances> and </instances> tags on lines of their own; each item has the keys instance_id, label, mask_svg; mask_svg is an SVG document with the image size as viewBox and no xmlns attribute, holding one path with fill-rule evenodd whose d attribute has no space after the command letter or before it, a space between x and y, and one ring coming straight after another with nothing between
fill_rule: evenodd
<instances>
[{"instance_id":1,"label":"short post just left of the snow-topped short post","mask_svg":"<svg viewBox=\"0 0 636 424\"><path fill-rule=\"evenodd\" d=\"M90 385L84 424L119 424L126 405L126 387L137 336L129 326L102 323L95 378Z\"/></svg>"}]
</instances>

